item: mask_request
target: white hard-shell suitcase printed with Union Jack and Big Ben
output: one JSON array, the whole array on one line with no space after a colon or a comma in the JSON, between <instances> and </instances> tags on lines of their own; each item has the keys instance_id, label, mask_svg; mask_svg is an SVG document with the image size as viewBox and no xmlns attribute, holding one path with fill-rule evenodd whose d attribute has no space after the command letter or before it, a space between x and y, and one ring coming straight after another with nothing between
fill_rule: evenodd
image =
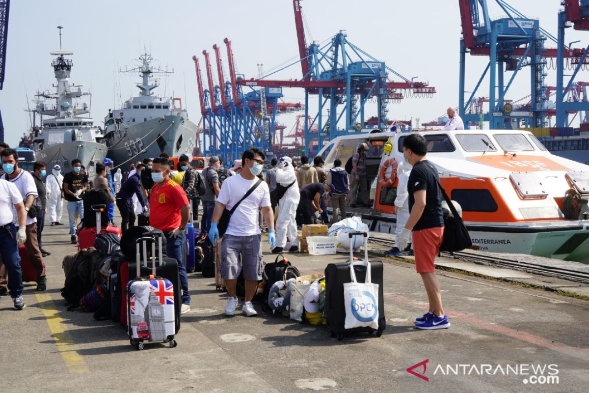
<instances>
[{"instance_id":1,"label":"white hard-shell suitcase printed with Union Jack and Big Ben","mask_svg":"<svg viewBox=\"0 0 589 393\"><path fill-rule=\"evenodd\" d=\"M158 237L159 256L155 256L155 239L153 237L141 237L137 239L135 268L137 278L127 284L127 329L131 345L137 349L143 349L144 343L163 342L171 348L177 345L176 334L176 310L175 303L178 290L174 284L162 277L155 275L155 260L163 263L161 253L161 237ZM151 243L151 256L148 256L147 245ZM151 261L151 275L141 274L141 249L145 256L144 266Z\"/></svg>"}]
</instances>

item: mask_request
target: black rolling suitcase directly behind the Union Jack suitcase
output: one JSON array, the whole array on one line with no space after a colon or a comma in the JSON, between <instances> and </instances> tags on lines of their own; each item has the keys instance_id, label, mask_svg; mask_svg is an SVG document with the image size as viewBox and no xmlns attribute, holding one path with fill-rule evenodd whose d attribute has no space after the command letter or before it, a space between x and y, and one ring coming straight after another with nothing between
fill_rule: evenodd
<instances>
[{"instance_id":1,"label":"black rolling suitcase directly behind the Union Jack suitcase","mask_svg":"<svg viewBox=\"0 0 589 393\"><path fill-rule=\"evenodd\" d=\"M157 233L148 233L148 236L155 236L157 237ZM158 239L159 240L159 239ZM161 247L161 243L160 243ZM159 248L159 247L158 247ZM145 259L143 255L141 255L142 259ZM151 259L151 253L147 250L147 258ZM153 261L153 259L151 259ZM127 277L135 277L137 275L137 262L129 261L128 262L128 274ZM148 266L141 265L139 276L149 276L153 274L151 263ZM180 274L178 273L178 262L174 258L163 257L161 264L158 263L158 266L155 267L155 276L165 278L169 280L174 285L174 312L176 318L174 318L176 323L176 333L180 330L180 309L182 307L182 286L180 285ZM124 284L120 283L119 286Z\"/></svg>"}]
</instances>

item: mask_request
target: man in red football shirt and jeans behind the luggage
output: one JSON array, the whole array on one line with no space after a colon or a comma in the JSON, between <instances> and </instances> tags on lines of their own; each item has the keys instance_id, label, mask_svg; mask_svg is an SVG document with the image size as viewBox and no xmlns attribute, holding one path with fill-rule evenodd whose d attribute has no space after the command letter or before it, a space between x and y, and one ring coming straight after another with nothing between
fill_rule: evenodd
<instances>
[{"instance_id":1,"label":"man in red football shirt and jeans behind the luggage","mask_svg":"<svg viewBox=\"0 0 589 393\"><path fill-rule=\"evenodd\" d=\"M178 261L180 285L182 286L182 308L180 313L190 311L188 275L182 260L182 247L186 242L184 230L190 215L190 204L180 184L170 180L170 166L167 158L157 157L151 167L154 186L150 195L150 225L166 235L166 253Z\"/></svg>"}]
</instances>

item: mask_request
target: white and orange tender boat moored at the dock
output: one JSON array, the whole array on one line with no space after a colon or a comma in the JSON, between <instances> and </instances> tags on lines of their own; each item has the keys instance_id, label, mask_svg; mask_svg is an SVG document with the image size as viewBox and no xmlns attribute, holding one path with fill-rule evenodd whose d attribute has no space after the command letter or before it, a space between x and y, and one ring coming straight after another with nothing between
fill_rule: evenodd
<instances>
[{"instance_id":1,"label":"white and orange tender boat moored at the dock","mask_svg":"<svg viewBox=\"0 0 589 393\"><path fill-rule=\"evenodd\" d=\"M460 204L472 241L481 250L589 263L589 166L552 155L527 131L421 134L428 141L428 159L438 169L448 196ZM328 169L336 158L346 163L359 143L368 143L372 209L350 210L362 213L371 230L395 232L398 182L391 175L395 167L391 158L396 163L404 160L402 144L407 135L353 134L336 138L319 151ZM388 141L392 151L383 154ZM573 199L565 198L567 194Z\"/></svg>"}]
</instances>

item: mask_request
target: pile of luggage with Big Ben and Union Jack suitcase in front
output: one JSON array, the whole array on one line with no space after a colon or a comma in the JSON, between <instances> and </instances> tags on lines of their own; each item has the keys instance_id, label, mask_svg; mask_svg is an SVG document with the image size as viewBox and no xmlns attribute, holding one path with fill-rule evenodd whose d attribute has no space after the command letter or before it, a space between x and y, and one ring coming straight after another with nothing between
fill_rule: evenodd
<instances>
[{"instance_id":1,"label":"pile of luggage with Big Ben and Union Jack suitcase in front","mask_svg":"<svg viewBox=\"0 0 589 393\"><path fill-rule=\"evenodd\" d=\"M105 207L84 206L85 217L94 216L86 214L90 210L95 221L82 222L79 251L64 257L61 295L68 310L80 308L98 321L120 323L137 349L148 342L176 346L180 276L178 261L165 255L166 237L150 226L131 227L121 236L119 227L102 226L108 222Z\"/></svg>"}]
</instances>

